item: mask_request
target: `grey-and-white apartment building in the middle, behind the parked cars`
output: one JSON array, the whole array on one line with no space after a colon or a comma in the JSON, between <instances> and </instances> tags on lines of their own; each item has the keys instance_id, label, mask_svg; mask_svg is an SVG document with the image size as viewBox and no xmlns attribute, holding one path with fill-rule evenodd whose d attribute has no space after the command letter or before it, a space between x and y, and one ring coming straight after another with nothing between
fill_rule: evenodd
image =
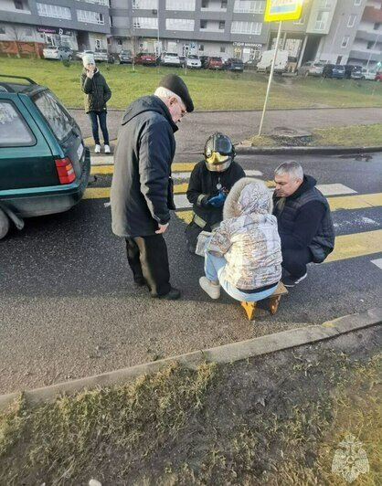
<instances>
[{"instance_id":1,"label":"grey-and-white apartment building in the middle, behind the parked cars","mask_svg":"<svg viewBox=\"0 0 382 486\"><path fill-rule=\"evenodd\" d=\"M111 50L247 60L267 43L265 1L111 0Z\"/></svg>"}]
</instances>

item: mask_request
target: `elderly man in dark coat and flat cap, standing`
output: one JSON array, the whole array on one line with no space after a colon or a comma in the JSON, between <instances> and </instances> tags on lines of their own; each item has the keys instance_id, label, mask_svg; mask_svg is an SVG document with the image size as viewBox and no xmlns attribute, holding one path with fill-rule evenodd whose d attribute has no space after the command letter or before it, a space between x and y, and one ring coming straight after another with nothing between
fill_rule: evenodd
<instances>
[{"instance_id":1,"label":"elderly man in dark coat and flat cap, standing","mask_svg":"<svg viewBox=\"0 0 382 486\"><path fill-rule=\"evenodd\" d=\"M114 153L111 183L112 231L126 238L127 259L137 285L152 297L175 300L163 233L175 209L171 164L177 123L194 110L186 84L175 74L159 83L153 96L127 108Z\"/></svg>"}]
</instances>

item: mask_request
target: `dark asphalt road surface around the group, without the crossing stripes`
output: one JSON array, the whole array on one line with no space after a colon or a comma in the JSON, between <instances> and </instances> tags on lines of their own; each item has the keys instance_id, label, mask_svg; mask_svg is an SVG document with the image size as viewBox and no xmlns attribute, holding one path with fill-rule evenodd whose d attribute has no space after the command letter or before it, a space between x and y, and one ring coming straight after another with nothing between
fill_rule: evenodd
<instances>
[{"instance_id":1,"label":"dark asphalt road surface around the group, without the crossing stripes","mask_svg":"<svg viewBox=\"0 0 382 486\"><path fill-rule=\"evenodd\" d=\"M367 162L297 159L319 184L342 184L359 195L381 191L382 153ZM238 160L270 180L283 159ZM104 174L90 187L110 184L111 175ZM176 216L165 237L172 283L183 291L183 299L151 299L133 287L123 240L111 233L105 203L104 198L85 199L67 213L29 219L22 232L14 230L1 242L0 393L320 323L380 303L382 269L372 260L382 253L373 253L311 266L308 278L283 298L276 315L260 303L257 321L248 322L238 302L227 296L210 301L199 289L203 261L187 253L186 225ZM338 210L334 223L339 237L366 235L381 229L381 209Z\"/></svg>"}]
</instances>

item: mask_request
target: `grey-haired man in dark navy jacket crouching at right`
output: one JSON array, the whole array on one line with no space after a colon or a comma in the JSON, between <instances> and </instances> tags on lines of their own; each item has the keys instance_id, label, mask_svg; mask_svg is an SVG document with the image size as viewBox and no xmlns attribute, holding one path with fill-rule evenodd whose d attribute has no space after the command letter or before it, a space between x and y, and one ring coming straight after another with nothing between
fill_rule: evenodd
<instances>
[{"instance_id":1,"label":"grey-haired man in dark navy jacket crouching at right","mask_svg":"<svg viewBox=\"0 0 382 486\"><path fill-rule=\"evenodd\" d=\"M277 217L282 250L282 283L294 287L307 276L307 263L321 263L334 249L330 207L303 174L297 162L284 162L274 171L273 214Z\"/></svg>"}]
</instances>

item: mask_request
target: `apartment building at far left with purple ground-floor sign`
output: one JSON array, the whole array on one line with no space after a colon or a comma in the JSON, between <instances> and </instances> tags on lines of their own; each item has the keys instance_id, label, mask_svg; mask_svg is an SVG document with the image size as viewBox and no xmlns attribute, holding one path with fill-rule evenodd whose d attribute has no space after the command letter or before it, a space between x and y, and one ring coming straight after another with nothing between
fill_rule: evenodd
<instances>
[{"instance_id":1,"label":"apartment building at far left with purple ground-floor sign","mask_svg":"<svg viewBox=\"0 0 382 486\"><path fill-rule=\"evenodd\" d=\"M1 0L0 41L107 48L109 0Z\"/></svg>"}]
</instances>

